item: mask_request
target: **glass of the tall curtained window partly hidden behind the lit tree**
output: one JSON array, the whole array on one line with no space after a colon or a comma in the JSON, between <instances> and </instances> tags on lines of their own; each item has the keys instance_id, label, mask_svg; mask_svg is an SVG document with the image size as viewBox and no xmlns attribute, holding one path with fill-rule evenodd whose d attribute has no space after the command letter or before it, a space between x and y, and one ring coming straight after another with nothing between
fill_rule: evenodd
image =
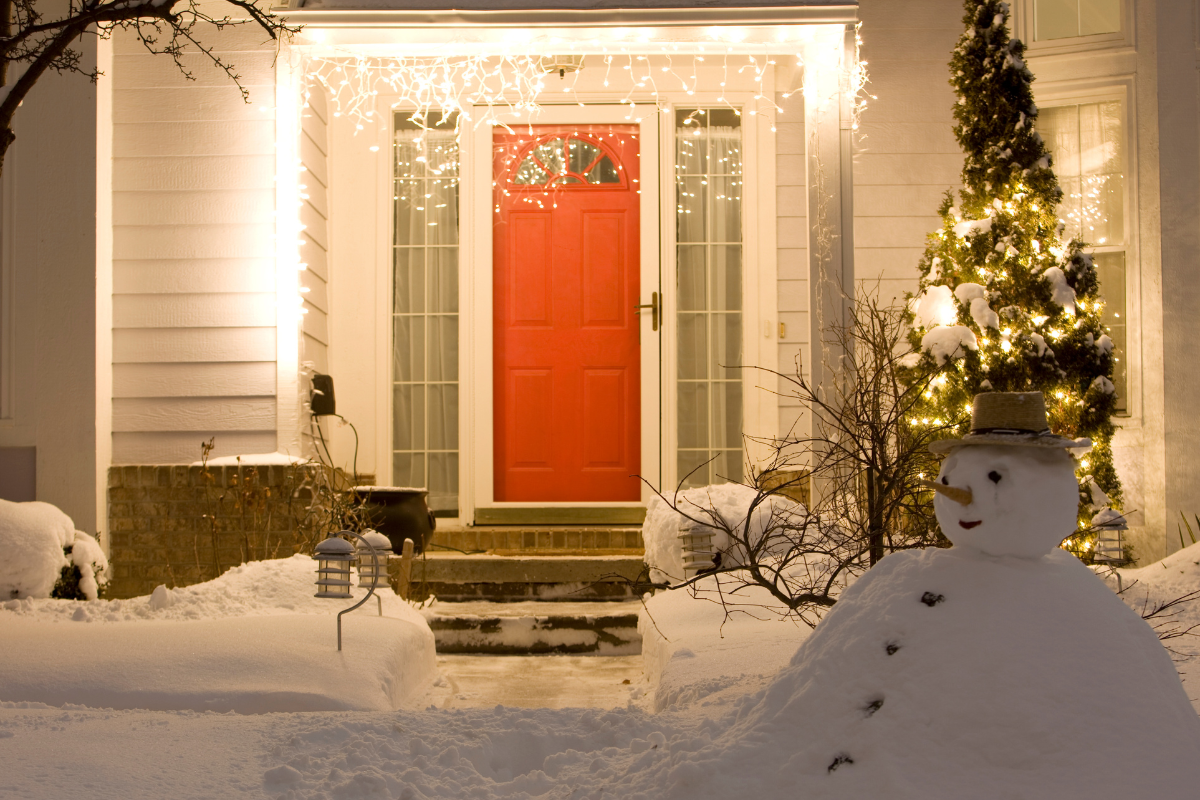
<instances>
[{"instance_id":1,"label":"glass of the tall curtained window partly hidden behind the lit tree","mask_svg":"<svg viewBox=\"0 0 1200 800\"><path fill-rule=\"evenodd\" d=\"M1043 108L1038 132L1054 156L1062 186L1058 216L1064 239L1088 245L1100 278L1104 324L1114 343L1117 411L1128 413L1128 308L1126 301L1126 152L1120 101Z\"/></svg>"}]
</instances>

